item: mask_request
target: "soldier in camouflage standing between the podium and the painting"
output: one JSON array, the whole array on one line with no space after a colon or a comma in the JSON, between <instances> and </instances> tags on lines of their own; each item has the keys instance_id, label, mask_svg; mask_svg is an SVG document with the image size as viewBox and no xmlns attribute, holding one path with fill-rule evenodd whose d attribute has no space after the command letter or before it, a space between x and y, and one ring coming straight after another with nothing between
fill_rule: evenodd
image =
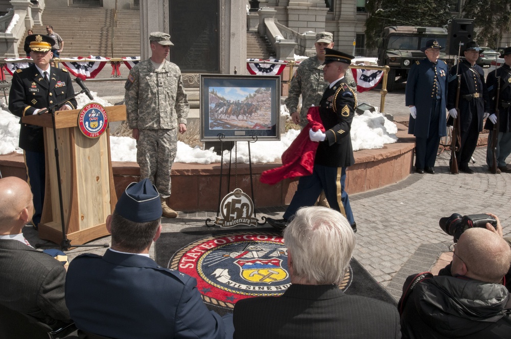
<instances>
[{"instance_id":1,"label":"soldier in camouflage standing between the podium and the painting","mask_svg":"<svg viewBox=\"0 0 511 339\"><path fill-rule=\"evenodd\" d=\"M136 161L141 180L149 178L158 189L162 215L176 217L167 205L170 171L177 151L177 131L187 130L190 109L181 70L167 61L170 35L153 32L149 37L151 58L133 67L126 81L124 101L128 125L137 140Z\"/></svg>"}]
</instances>

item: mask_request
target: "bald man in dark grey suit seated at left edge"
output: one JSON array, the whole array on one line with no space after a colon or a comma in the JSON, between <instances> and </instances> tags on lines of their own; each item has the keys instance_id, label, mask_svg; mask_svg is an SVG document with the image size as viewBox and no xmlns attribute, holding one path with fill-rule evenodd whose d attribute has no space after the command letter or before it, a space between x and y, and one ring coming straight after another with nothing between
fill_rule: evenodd
<instances>
[{"instance_id":1,"label":"bald man in dark grey suit seated at left edge","mask_svg":"<svg viewBox=\"0 0 511 339\"><path fill-rule=\"evenodd\" d=\"M21 233L33 214L30 186L16 177L0 179L0 305L57 329L72 323L64 300L66 271Z\"/></svg>"}]
</instances>

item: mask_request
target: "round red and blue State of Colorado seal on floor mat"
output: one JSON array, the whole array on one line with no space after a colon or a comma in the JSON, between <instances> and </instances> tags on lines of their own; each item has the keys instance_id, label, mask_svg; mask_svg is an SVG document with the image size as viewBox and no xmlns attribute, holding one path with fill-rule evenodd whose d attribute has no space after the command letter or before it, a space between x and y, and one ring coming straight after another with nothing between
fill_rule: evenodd
<instances>
[{"instance_id":1,"label":"round red and blue State of Colorado seal on floor mat","mask_svg":"<svg viewBox=\"0 0 511 339\"><path fill-rule=\"evenodd\" d=\"M225 308L233 308L244 298L280 296L291 284L284 240L273 232L202 238L177 251L169 268L196 278L204 302ZM350 270L341 288L351 280Z\"/></svg>"}]
</instances>

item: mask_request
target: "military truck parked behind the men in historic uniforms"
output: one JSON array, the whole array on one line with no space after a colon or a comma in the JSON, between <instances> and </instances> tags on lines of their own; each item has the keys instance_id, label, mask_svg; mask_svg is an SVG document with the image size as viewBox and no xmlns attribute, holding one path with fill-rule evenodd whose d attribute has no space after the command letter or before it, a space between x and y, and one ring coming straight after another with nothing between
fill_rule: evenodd
<instances>
[{"instance_id":1,"label":"military truck parked behind the men in historic uniforms","mask_svg":"<svg viewBox=\"0 0 511 339\"><path fill-rule=\"evenodd\" d=\"M383 29L381 37L378 38L378 65L390 67L387 77L389 92L394 90L397 81L406 81L408 71L415 61L426 57L421 48L430 39L437 39L440 46L445 47L447 29L413 26L390 26ZM442 49L439 58L447 62L443 51L445 49Z\"/></svg>"}]
</instances>

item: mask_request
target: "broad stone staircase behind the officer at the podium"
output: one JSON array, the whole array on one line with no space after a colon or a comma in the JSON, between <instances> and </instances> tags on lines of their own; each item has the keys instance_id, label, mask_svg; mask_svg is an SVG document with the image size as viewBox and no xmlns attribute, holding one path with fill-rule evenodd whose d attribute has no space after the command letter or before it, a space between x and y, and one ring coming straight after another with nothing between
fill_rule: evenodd
<instances>
[{"instance_id":1,"label":"broad stone staircase behind the officer at the podium","mask_svg":"<svg viewBox=\"0 0 511 339\"><path fill-rule=\"evenodd\" d=\"M95 7L51 8L42 13L44 26L34 26L34 34L45 35L46 25L64 40L60 57L132 57L140 56L140 12L118 10L115 27L113 55L111 49L113 10ZM64 18L64 19L63 19ZM25 40L24 36L22 41ZM23 44L18 49L24 56Z\"/></svg>"}]
</instances>

